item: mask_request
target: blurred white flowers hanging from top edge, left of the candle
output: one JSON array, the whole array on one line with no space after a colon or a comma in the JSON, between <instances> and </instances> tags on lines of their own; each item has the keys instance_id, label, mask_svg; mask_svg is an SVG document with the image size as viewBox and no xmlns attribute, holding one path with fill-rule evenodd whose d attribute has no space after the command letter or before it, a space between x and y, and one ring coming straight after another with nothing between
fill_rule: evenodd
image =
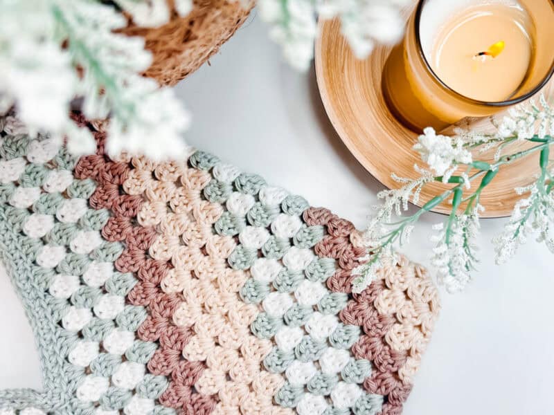
<instances>
[{"instance_id":1,"label":"blurred white flowers hanging from top edge, left of the candle","mask_svg":"<svg viewBox=\"0 0 554 415\"><path fill-rule=\"evenodd\" d=\"M319 35L317 18L339 17L341 32L356 57L367 57L375 44L395 44L404 33L400 10L412 0L258 0L260 17L285 59L305 71L314 57Z\"/></svg>"}]
</instances>

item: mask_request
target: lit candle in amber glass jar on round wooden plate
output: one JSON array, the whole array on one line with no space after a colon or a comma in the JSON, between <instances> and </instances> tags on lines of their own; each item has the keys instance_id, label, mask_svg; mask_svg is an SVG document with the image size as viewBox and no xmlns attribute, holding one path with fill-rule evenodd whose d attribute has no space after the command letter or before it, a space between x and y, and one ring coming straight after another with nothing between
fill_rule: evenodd
<instances>
[{"instance_id":1,"label":"lit candle in amber glass jar on round wooden plate","mask_svg":"<svg viewBox=\"0 0 554 415\"><path fill-rule=\"evenodd\" d=\"M521 102L554 70L551 0L422 0L383 73L406 127L437 130Z\"/></svg>"}]
</instances>

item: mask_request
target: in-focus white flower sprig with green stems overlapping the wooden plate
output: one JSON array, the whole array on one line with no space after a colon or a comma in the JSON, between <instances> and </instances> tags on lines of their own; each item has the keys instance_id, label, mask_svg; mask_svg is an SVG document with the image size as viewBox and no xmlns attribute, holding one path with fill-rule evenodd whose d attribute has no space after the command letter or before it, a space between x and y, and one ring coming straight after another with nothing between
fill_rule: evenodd
<instances>
[{"instance_id":1,"label":"in-focus white flower sprig with green stems overlapping the wooden plate","mask_svg":"<svg viewBox=\"0 0 554 415\"><path fill-rule=\"evenodd\" d=\"M554 221L554 170L549 165L550 146L554 144L554 109L541 97L539 104L521 104L508 113L501 122L493 122L493 133L477 133L456 129L454 136L442 136L433 129L425 129L414 145L429 170L415 166L420 175L415 179L393 178L402 183L397 190L385 190L377 194L384 203L377 206L364 232L368 246L368 261L356 271L353 282L355 292L364 288L375 278L375 272L384 261L394 258L393 247L407 242L413 225L422 214L449 202L451 212L444 223L434 226L436 234L431 264L437 270L437 279L447 291L463 290L471 280L471 273L478 261L476 236L479 234L479 214L484 210L479 203L481 193L494 180L505 165L515 160L540 154L535 183L515 192L521 195L509 223L502 234L493 239L497 264L502 264L532 234L554 252L554 237L551 227ZM514 142L528 142L531 147L510 152ZM492 162L474 160L470 150L479 154L483 147L494 148ZM402 216L409 202L418 204L422 187L431 182L450 183L452 187L434 196L414 214ZM479 183L470 191L471 183ZM524 196L526 195L526 196ZM393 218L395 218L393 220Z\"/></svg>"}]
</instances>

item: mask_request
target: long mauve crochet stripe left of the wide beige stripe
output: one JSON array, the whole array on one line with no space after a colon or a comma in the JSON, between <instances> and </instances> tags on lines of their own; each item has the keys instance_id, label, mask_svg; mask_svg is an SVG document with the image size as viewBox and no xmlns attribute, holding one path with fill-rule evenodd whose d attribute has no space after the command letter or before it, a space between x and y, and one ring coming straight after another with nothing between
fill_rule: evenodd
<instances>
[{"instance_id":1,"label":"long mauve crochet stripe left of the wide beige stripe","mask_svg":"<svg viewBox=\"0 0 554 415\"><path fill-rule=\"evenodd\" d=\"M79 117L78 120L80 124L86 124L84 118ZM167 294L160 288L171 265L149 257L148 250L157 237L157 231L134 224L143 198L125 194L121 187L131 167L129 163L114 162L103 156L105 133L95 131L94 135L98 142L97 154L80 158L75 166L75 176L91 178L98 183L90 198L91 206L110 210L113 214L102 229L102 237L107 241L125 242L125 250L117 259L115 268L121 273L134 273L139 278L139 283L127 295L127 301L145 306L149 312L147 320L137 331L139 339L159 341L159 349L148 362L150 373L170 379L170 385L159 402L166 407L180 409L186 415L209 414L215 406L215 399L193 391L204 365L202 362L187 362L181 356L192 332L175 326L172 320L176 306L182 301L181 295Z\"/></svg>"}]
</instances>

